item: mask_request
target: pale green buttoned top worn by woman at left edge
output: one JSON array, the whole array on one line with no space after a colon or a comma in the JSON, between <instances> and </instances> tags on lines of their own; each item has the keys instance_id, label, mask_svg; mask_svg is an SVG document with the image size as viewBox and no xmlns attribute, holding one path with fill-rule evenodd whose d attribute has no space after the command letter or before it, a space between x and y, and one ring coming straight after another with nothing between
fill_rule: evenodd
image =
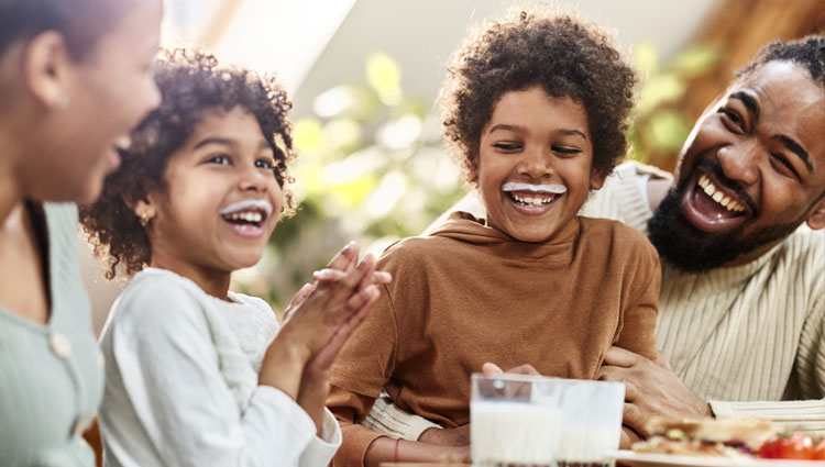
<instances>
[{"instance_id":1,"label":"pale green buttoned top worn by woman at left edge","mask_svg":"<svg viewBox=\"0 0 825 467\"><path fill-rule=\"evenodd\" d=\"M0 464L90 467L95 456L80 435L100 402L103 373L80 279L77 208L44 203L43 211L50 321L0 307Z\"/></svg>"}]
</instances>

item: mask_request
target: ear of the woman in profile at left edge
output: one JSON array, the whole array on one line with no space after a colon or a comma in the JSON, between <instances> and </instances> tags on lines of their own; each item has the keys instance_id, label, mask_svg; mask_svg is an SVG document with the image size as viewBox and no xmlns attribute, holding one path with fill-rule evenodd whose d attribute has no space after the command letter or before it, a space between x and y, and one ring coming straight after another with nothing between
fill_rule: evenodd
<instances>
[{"instance_id":1,"label":"ear of the woman in profile at left edge","mask_svg":"<svg viewBox=\"0 0 825 467\"><path fill-rule=\"evenodd\" d=\"M54 31L38 34L23 53L25 87L45 108L65 108L70 98L74 66L63 35Z\"/></svg>"}]
</instances>

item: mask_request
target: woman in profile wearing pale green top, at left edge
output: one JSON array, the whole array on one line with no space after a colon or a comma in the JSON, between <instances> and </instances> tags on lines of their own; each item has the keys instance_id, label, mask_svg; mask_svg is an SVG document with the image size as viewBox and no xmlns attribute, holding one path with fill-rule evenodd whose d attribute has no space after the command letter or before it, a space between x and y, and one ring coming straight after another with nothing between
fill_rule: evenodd
<instances>
[{"instance_id":1,"label":"woman in profile wearing pale green top, at left edge","mask_svg":"<svg viewBox=\"0 0 825 467\"><path fill-rule=\"evenodd\" d=\"M76 202L158 102L160 0L0 0L0 465L90 467L103 368ZM125 52L128 51L128 52Z\"/></svg>"}]
</instances>

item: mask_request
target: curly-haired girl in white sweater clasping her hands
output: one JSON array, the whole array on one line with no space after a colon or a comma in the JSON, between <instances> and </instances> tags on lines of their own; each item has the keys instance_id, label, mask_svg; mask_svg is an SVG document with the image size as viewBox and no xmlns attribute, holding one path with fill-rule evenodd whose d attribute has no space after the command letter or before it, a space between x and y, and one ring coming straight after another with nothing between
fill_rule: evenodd
<instances>
[{"instance_id":1,"label":"curly-haired girl in white sweater clasping her hands","mask_svg":"<svg viewBox=\"0 0 825 467\"><path fill-rule=\"evenodd\" d=\"M329 367L388 276L369 255L355 265L350 244L280 330L263 300L229 291L292 208L292 104L274 80L197 52L161 60L156 82L161 107L81 213L108 277L138 273L100 344L107 464L327 465L341 442Z\"/></svg>"}]
</instances>

